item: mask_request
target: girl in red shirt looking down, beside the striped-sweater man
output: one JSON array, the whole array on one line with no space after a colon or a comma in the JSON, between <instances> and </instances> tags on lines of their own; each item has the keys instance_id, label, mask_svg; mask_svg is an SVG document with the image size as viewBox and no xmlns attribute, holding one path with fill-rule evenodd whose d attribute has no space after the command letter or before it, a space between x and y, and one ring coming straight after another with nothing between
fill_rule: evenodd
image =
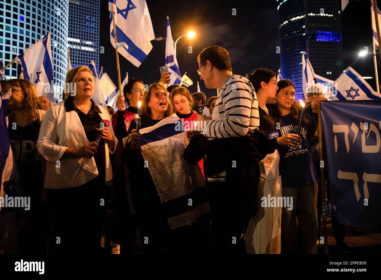
<instances>
[{"instance_id":1,"label":"girl in red shirt looking down, beside the striped-sweater man","mask_svg":"<svg viewBox=\"0 0 381 280\"><path fill-rule=\"evenodd\" d=\"M197 114L191 111L192 97L187 88L180 86L172 94L172 101L176 109L176 115L181 119L185 129L194 128L197 122ZM202 176L204 176L204 160L199 161ZM205 176L204 176L205 179Z\"/></svg>"}]
</instances>

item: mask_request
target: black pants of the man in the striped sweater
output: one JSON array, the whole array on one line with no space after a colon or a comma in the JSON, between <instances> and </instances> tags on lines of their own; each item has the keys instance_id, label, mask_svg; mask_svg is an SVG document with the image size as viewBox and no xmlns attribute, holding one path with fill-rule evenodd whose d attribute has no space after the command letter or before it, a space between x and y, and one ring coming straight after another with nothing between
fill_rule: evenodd
<instances>
[{"instance_id":1,"label":"black pants of the man in the striped sweater","mask_svg":"<svg viewBox=\"0 0 381 280\"><path fill-rule=\"evenodd\" d=\"M245 234L249 221L242 219L242 213L236 211L232 201L234 189L225 182L207 182L210 199L210 220L215 253L245 254Z\"/></svg>"}]
</instances>

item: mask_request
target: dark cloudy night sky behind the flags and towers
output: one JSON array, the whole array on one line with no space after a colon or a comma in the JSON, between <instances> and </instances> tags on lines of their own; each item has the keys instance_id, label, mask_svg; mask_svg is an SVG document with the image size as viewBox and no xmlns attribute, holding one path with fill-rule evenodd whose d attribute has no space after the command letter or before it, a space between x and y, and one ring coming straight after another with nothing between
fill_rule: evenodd
<instances>
[{"instance_id":1,"label":"dark cloudy night sky behind the flags and towers","mask_svg":"<svg viewBox=\"0 0 381 280\"><path fill-rule=\"evenodd\" d=\"M378 3L381 5L381 1ZM156 37L166 37L166 16L170 19L174 41L189 30L197 33L192 40L187 37L179 40L177 60L181 74L187 72L194 82L189 90L195 92L199 81L201 91L208 97L216 95L216 90L205 88L195 71L198 67L197 54L207 46L219 45L229 51L234 74L245 75L260 67L277 72L280 66L280 54L275 52L279 46L277 5L276 0L147 1ZM236 16L232 15L232 8L237 10ZM105 51L104 54L99 54L99 66L104 67L117 85L115 49L110 43L107 1L101 1L100 10L99 46L104 46ZM372 56L359 58L357 55L364 46L368 46L369 51L372 50L370 1L350 0L341 13L341 24L344 69L352 66L360 75L374 77ZM119 55L122 80L125 72L128 72L129 78L140 78L146 84L160 79L159 68L165 65L165 40L152 40L151 43L153 48L140 67L135 67ZM188 46L192 46L193 53L188 53ZM373 80L367 81L375 89Z\"/></svg>"}]
</instances>

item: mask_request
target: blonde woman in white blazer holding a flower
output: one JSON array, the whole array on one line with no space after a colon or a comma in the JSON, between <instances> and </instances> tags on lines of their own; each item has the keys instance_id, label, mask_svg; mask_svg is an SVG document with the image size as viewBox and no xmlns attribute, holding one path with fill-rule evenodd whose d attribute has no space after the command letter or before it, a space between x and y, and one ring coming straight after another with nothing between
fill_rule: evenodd
<instances>
[{"instance_id":1,"label":"blonde woman in white blazer holding a flower","mask_svg":"<svg viewBox=\"0 0 381 280\"><path fill-rule=\"evenodd\" d=\"M96 253L112 179L110 154L118 141L112 126L107 127L103 121L110 121L109 112L91 99L91 70L74 67L67 72L65 82L71 85L64 89L65 100L46 112L37 143L38 151L48 161L44 188L48 189L54 217L53 248L57 253ZM102 122L106 123L104 127ZM99 133L102 139L97 144L94 140ZM85 157L90 160L71 183Z\"/></svg>"}]
</instances>

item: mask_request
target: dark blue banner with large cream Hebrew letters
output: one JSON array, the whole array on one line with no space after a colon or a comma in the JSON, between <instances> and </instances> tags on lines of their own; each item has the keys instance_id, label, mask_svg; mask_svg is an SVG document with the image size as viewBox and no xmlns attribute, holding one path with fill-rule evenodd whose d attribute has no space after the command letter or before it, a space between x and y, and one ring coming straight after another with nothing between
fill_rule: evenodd
<instances>
[{"instance_id":1,"label":"dark blue banner with large cream Hebrew letters","mask_svg":"<svg viewBox=\"0 0 381 280\"><path fill-rule=\"evenodd\" d=\"M340 224L381 232L381 101L323 102L321 110L333 213Z\"/></svg>"}]
</instances>

